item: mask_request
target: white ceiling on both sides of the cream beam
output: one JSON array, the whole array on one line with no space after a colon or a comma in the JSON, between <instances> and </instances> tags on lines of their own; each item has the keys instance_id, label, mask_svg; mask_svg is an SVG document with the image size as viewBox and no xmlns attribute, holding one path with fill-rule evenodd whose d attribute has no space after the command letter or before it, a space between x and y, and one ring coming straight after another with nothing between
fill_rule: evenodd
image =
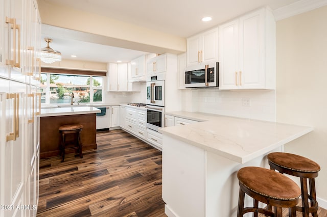
<instances>
[{"instance_id":1,"label":"white ceiling on both sides of the cream beam","mask_svg":"<svg viewBox=\"0 0 327 217\"><path fill-rule=\"evenodd\" d=\"M112 19L136 24L159 32L189 37L222 22L263 6L272 10L298 0L39 0L97 13ZM211 16L210 22L201 18ZM41 17L42 19L42 17ZM54 39L50 44L62 53L63 59L96 62L129 62L144 52L83 41L82 33L42 25L42 38ZM45 47L46 43L44 42Z\"/></svg>"}]
</instances>

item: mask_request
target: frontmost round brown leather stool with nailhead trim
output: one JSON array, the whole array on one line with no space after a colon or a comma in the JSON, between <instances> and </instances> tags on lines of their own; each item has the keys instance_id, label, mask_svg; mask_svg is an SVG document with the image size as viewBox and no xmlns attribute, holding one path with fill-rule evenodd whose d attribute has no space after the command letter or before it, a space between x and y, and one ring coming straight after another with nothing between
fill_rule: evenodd
<instances>
[{"instance_id":1,"label":"frontmost round brown leather stool with nailhead trim","mask_svg":"<svg viewBox=\"0 0 327 217\"><path fill-rule=\"evenodd\" d=\"M260 167L241 168L237 177L240 185L238 217L247 212L253 212L253 216L263 213L266 216L282 217L283 207L290 208L289 216L296 216L295 206L301 190L290 178ZM245 193L254 199L253 207L244 208ZM274 212L259 208L259 201L274 206Z\"/></svg>"}]
</instances>

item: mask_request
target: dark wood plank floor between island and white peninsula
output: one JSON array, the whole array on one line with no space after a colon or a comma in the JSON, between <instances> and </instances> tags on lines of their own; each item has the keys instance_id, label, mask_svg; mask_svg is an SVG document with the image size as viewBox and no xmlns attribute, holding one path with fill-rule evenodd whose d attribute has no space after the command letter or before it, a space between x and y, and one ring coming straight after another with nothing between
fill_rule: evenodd
<instances>
[{"instance_id":1,"label":"dark wood plank floor between island and white peninsula","mask_svg":"<svg viewBox=\"0 0 327 217\"><path fill-rule=\"evenodd\" d=\"M167 216L161 152L123 130L97 133L97 150L40 159L37 216Z\"/></svg>"}]
</instances>

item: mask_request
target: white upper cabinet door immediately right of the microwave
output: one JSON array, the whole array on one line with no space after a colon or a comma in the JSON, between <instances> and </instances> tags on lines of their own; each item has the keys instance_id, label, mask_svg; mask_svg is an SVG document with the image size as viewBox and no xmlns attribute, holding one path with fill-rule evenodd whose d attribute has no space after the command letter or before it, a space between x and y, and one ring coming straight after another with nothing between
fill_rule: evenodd
<instances>
[{"instance_id":1,"label":"white upper cabinet door immediately right of the microwave","mask_svg":"<svg viewBox=\"0 0 327 217\"><path fill-rule=\"evenodd\" d=\"M239 89L239 20L219 26L219 89Z\"/></svg>"}]
</instances>

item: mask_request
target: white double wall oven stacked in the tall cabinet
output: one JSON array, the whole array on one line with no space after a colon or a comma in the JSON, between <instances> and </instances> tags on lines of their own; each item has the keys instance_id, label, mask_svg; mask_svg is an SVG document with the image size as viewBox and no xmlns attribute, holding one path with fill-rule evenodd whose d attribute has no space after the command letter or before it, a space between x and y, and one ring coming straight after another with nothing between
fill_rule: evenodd
<instances>
[{"instance_id":1,"label":"white double wall oven stacked in the tall cabinet","mask_svg":"<svg viewBox=\"0 0 327 217\"><path fill-rule=\"evenodd\" d=\"M147 78L147 127L158 131L165 126L165 74Z\"/></svg>"}]
</instances>

